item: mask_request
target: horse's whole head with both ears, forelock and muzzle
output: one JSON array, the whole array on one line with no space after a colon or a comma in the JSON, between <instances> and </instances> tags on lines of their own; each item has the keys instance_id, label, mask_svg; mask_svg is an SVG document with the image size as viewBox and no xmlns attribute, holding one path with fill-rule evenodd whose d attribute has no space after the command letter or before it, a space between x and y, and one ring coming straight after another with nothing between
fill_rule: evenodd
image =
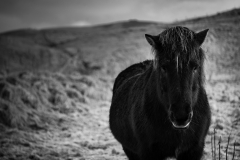
<instances>
[{"instance_id":1,"label":"horse's whole head with both ears, forelock and muzzle","mask_svg":"<svg viewBox=\"0 0 240 160\"><path fill-rule=\"evenodd\" d=\"M159 101L177 129L190 125L203 85L205 56L201 45L207 32L177 26L157 36L145 35L153 48Z\"/></svg>"}]
</instances>

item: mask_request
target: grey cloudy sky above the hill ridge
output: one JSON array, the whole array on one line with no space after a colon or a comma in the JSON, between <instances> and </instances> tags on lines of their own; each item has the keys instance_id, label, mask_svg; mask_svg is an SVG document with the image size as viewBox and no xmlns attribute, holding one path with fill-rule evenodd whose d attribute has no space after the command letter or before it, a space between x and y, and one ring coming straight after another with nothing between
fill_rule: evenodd
<instances>
[{"instance_id":1,"label":"grey cloudy sky above the hill ridge","mask_svg":"<svg viewBox=\"0 0 240 160\"><path fill-rule=\"evenodd\" d=\"M0 32L129 19L173 22L239 7L240 0L0 0Z\"/></svg>"}]
</instances>

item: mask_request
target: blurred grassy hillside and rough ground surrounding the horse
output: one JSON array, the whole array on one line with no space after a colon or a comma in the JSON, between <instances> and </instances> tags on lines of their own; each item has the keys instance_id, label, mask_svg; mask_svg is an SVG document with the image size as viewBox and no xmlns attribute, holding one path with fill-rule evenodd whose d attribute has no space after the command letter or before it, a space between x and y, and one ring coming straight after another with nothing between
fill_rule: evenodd
<instances>
[{"instance_id":1,"label":"blurred grassy hillside and rough ground surrounding the horse","mask_svg":"<svg viewBox=\"0 0 240 160\"><path fill-rule=\"evenodd\" d=\"M0 159L126 159L108 127L112 86L130 64L151 59L144 34L182 25L209 28L206 89L211 135L221 155L240 157L240 9L172 24L130 20L84 28L0 34Z\"/></svg>"}]
</instances>

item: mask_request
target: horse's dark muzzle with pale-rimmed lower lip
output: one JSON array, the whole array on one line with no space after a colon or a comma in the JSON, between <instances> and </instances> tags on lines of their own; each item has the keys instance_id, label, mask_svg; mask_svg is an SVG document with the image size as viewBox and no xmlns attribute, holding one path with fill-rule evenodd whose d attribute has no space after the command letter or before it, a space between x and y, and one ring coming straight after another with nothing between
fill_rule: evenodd
<instances>
[{"instance_id":1,"label":"horse's dark muzzle with pale-rimmed lower lip","mask_svg":"<svg viewBox=\"0 0 240 160\"><path fill-rule=\"evenodd\" d=\"M191 123L193 112L184 116L176 116L172 112L170 113L170 121L175 129L187 129Z\"/></svg>"}]
</instances>

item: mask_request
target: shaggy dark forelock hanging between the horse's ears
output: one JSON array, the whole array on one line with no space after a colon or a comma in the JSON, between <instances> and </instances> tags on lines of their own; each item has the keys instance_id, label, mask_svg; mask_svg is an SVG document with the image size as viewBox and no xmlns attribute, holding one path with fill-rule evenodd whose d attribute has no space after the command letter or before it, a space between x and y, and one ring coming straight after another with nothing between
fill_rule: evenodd
<instances>
[{"instance_id":1,"label":"shaggy dark forelock hanging between the horse's ears","mask_svg":"<svg viewBox=\"0 0 240 160\"><path fill-rule=\"evenodd\" d=\"M189 64L191 59L200 61L199 46L195 42L195 33L186 27L172 27L159 34L159 48L153 48L154 64L159 60L176 61L177 67Z\"/></svg>"}]
</instances>

